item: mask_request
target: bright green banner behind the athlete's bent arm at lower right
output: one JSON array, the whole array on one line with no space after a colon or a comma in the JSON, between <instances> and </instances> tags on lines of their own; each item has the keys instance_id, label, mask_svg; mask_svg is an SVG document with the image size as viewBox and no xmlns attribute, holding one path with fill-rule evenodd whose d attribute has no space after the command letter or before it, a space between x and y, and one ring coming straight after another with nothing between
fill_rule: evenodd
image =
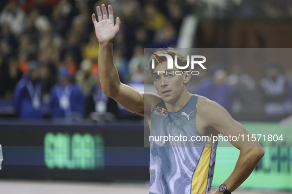
<instances>
[{"instance_id":1,"label":"bright green banner behind the athlete's bent arm at lower right","mask_svg":"<svg viewBox=\"0 0 292 194\"><path fill-rule=\"evenodd\" d=\"M275 123L243 123L243 125L251 134L264 130L273 134L284 132L283 138L286 141L259 141L264 145L265 155L240 188L292 191L292 126ZM217 147L212 183L214 188L222 184L231 174L239 154L240 151L235 147Z\"/></svg>"}]
</instances>

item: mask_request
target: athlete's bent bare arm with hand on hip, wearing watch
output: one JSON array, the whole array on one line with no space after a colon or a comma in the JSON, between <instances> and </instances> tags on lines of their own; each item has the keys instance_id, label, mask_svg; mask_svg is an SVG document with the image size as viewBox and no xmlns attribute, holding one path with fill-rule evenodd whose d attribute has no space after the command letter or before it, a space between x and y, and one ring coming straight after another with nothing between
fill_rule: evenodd
<instances>
[{"instance_id":1,"label":"athlete's bent bare arm with hand on hip, wearing watch","mask_svg":"<svg viewBox=\"0 0 292 194\"><path fill-rule=\"evenodd\" d=\"M230 114L218 103L201 98L200 118L204 120L207 127L216 129L223 136L250 135L250 132L235 121ZM250 135L251 136L251 135ZM264 151L257 141L230 141L230 143L240 150L239 158L235 168L224 183L229 192L237 189L249 176L256 164L263 157ZM218 190L214 194L221 194Z\"/></svg>"}]
</instances>

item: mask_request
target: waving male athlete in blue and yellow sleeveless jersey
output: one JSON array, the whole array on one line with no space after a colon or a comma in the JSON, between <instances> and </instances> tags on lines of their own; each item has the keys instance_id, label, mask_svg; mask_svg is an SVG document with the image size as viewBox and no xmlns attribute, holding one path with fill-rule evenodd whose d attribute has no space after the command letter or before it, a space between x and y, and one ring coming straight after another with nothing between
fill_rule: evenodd
<instances>
[{"instance_id":1,"label":"waving male athlete in blue and yellow sleeveless jersey","mask_svg":"<svg viewBox=\"0 0 292 194\"><path fill-rule=\"evenodd\" d=\"M209 137L218 133L224 136L250 134L241 124L233 120L222 106L206 97L192 95L187 92L186 84L191 78L190 73L184 72L182 75L173 75L171 73L158 74L158 71L178 70L176 67L167 69L166 59L164 59L161 65L155 65L152 71L154 86L160 96L153 93L138 93L129 86L121 83L113 62L112 52L112 42L119 31L121 21L120 18L117 17L116 25L114 24L114 15L111 5L108 6L109 14L104 4L102 4L101 7L102 13L100 7L96 7L99 22L96 21L95 14L92 14L92 21L100 45L98 58L100 82L102 90L106 95L115 99L125 107L125 109L133 113L145 115L151 133L153 133L153 130L155 130L155 134L159 133L158 129L154 127L155 125L152 125L153 122L155 122L155 124L159 123L160 125L167 123L168 125L171 124L171 126L164 125L161 130L170 130L172 124L180 125L180 120L177 123L171 123L171 118L177 117L177 114L179 114L185 117L185 121L191 120L194 122L195 125L192 125L194 128L191 131L186 131L190 132L190 134L206 135ZM178 53L174 54L179 55ZM159 113L156 109L160 112L163 111L164 114ZM187 112L191 109L196 111L196 114L193 112L191 115L191 113ZM157 111L158 114L155 114L155 111ZM156 115L165 116L161 117L159 120ZM188 120L186 120L186 118ZM182 125L185 125L185 122L182 123ZM233 192L247 179L257 162L259 162L264 155L262 148L257 142L244 142L248 147L244 147L243 142L230 142L240 150L240 156L234 171L224 182L222 180L223 184L214 194L230 194L230 192ZM151 146L150 193L207 194L210 192L213 172L212 165L214 164L214 155L212 155L211 152L212 149L213 151L215 150L215 145L209 147L209 140L201 143L204 144L203 147L199 146L193 149L194 151L201 149L199 150L202 151L201 155L190 153L189 151L192 151L192 147L178 147L178 149L176 149L176 147ZM161 144L161 142L158 144ZM184 148L188 148L187 151L183 152ZM203 153L205 153L204 155L206 156L209 155L209 157L204 157L203 160L201 158ZM159 156L160 154L162 156ZM191 158L194 161L188 161L186 164L183 161L186 160L185 158ZM163 161L160 159L163 159ZM169 165L169 163L173 165ZM190 169L190 164L193 164L193 169ZM206 165L208 166L207 168ZM200 168L198 166L200 166ZM195 169L196 167L199 168L199 171ZM188 174L186 172L188 172ZM197 174L197 176L195 176L195 174Z\"/></svg>"}]
</instances>

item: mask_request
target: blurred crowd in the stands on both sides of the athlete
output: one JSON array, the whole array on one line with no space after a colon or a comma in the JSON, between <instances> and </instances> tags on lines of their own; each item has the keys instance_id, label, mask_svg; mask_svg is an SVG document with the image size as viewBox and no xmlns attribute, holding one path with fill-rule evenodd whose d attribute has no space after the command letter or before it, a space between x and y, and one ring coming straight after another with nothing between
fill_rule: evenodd
<instances>
[{"instance_id":1,"label":"blurred crowd in the stands on both sides of the athlete","mask_svg":"<svg viewBox=\"0 0 292 194\"><path fill-rule=\"evenodd\" d=\"M277 15L282 4L269 6L273 2L268 2L264 10ZM200 7L209 10L204 14L220 15L241 4L240 10L248 14L253 2L1 0L0 106L11 100L14 114L21 118L141 118L123 109L100 88L99 44L91 14L102 3L112 4L115 17L122 21L113 44L120 79L143 91L143 48L176 47L184 16L194 10L200 14ZM289 16L292 9L286 9ZM260 84L240 66L200 77L192 92L217 101L243 120L254 119L249 117L250 111L261 111L258 115L262 118L258 119L275 121L292 112L292 75L284 75L279 64L269 65Z\"/></svg>"}]
</instances>

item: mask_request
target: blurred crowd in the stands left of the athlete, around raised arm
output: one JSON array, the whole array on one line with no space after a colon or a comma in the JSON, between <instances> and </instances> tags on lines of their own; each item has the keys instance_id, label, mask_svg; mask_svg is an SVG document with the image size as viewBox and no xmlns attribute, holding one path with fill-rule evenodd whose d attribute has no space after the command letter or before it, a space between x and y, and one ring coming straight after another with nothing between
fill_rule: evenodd
<instances>
[{"instance_id":1,"label":"blurred crowd in the stands left of the athlete, around raised arm","mask_svg":"<svg viewBox=\"0 0 292 194\"><path fill-rule=\"evenodd\" d=\"M0 97L13 100L19 117L136 117L100 88L91 14L102 3L122 19L114 61L121 81L137 90L143 90L143 48L175 47L187 14L178 0L1 1Z\"/></svg>"}]
</instances>

